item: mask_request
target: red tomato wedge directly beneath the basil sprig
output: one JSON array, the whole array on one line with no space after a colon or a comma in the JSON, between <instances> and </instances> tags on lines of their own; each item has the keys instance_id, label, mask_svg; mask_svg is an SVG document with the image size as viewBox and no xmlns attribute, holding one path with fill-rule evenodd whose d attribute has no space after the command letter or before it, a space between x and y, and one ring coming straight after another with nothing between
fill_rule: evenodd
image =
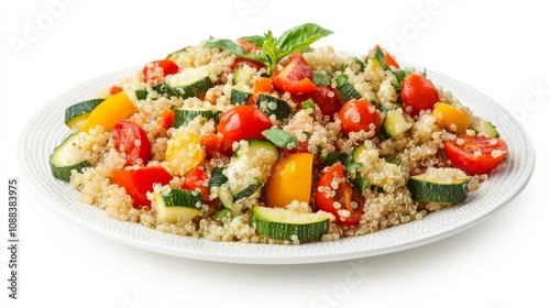
<instances>
[{"instance_id":1,"label":"red tomato wedge directly beneath the basil sprig","mask_svg":"<svg viewBox=\"0 0 550 308\"><path fill-rule=\"evenodd\" d=\"M275 88L292 95L317 90L317 86L311 81L314 72L299 52L292 54L288 64L273 76Z\"/></svg>"}]
</instances>

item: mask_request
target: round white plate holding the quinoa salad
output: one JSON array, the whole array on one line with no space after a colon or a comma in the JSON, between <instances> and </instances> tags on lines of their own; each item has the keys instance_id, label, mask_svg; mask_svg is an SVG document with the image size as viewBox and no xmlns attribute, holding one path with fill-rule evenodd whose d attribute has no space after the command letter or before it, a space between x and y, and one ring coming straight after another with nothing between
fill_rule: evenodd
<instances>
[{"instance_id":1,"label":"round white plate holding the quinoa salad","mask_svg":"<svg viewBox=\"0 0 550 308\"><path fill-rule=\"evenodd\" d=\"M50 154L69 133L64 124L65 108L135 72L136 68L129 68L95 78L47 103L24 128L18 151L26 180L52 210L79 227L139 249L187 258L248 264L318 263L403 251L455 234L495 213L526 187L535 166L535 148L529 136L506 110L457 80L428 72L436 85L496 124L509 146L506 162L463 205L431 213L421 221L329 243L243 244L163 233L108 218L102 210L78 202L77 191L55 179L48 166Z\"/></svg>"}]
</instances>

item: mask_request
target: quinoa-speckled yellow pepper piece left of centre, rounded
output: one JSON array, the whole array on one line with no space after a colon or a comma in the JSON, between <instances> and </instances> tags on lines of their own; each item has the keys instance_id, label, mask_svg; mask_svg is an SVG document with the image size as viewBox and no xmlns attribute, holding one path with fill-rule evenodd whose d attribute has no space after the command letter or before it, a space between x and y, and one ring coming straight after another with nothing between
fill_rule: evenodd
<instances>
[{"instance_id":1,"label":"quinoa-speckled yellow pepper piece left of centre, rounded","mask_svg":"<svg viewBox=\"0 0 550 308\"><path fill-rule=\"evenodd\" d=\"M206 157L206 151L200 145L200 138L180 130L168 140L164 161L170 174L184 176L197 167Z\"/></svg>"}]
</instances>

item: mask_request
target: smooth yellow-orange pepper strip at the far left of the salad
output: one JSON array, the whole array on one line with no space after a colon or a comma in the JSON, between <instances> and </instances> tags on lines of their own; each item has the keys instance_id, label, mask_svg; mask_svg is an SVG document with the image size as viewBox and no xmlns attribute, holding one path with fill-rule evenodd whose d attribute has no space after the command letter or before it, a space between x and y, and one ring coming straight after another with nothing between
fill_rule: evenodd
<instances>
[{"instance_id":1,"label":"smooth yellow-orange pepper strip at the far left of the salad","mask_svg":"<svg viewBox=\"0 0 550 308\"><path fill-rule=\"evenodd\" d=\"M101 125L103 131L110 132L114 123L130 118L130 116L138 111L138 107L135 107L127 94L123 91L116 94L103 100L90 112L84 123L82 131L87 132L97 125Z\"/></svg>"}]
</instances>

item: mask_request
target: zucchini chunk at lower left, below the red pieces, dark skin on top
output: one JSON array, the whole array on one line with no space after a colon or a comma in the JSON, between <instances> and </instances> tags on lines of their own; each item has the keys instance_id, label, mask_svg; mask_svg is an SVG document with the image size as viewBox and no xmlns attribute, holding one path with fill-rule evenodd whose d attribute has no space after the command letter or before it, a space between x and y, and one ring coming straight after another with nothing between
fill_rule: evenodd
<instances>
[{"instance_id":1,"label":"zucchini chunk at lower left, below the red pieces, dark skin on top","mask_svg":"<svg viewBox=\"0 0 550 308\"><path fill-rule=\"evenodd\" d=\"M154 193L153 205L160 221L191 220L201 212L202 196L186 189L164 189Z\"/></svg>"}]
</instances>

